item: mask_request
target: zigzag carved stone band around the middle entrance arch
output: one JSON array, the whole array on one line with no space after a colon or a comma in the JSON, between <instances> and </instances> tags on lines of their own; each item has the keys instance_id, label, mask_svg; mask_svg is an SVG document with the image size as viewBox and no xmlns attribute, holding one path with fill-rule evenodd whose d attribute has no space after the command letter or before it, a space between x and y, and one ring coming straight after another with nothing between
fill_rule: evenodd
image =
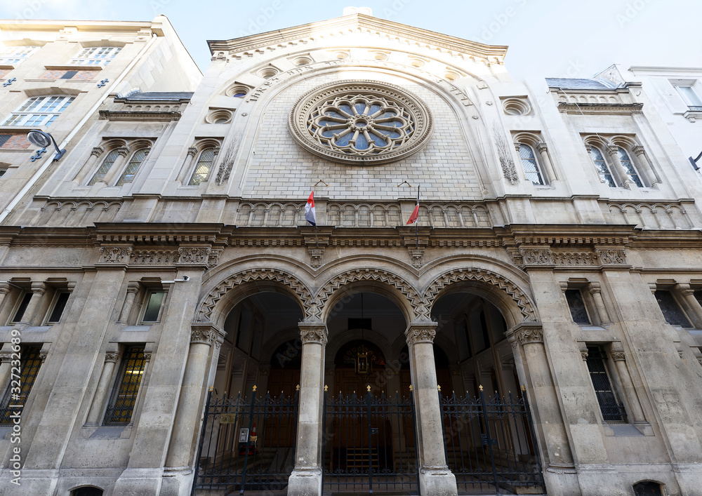
<instances>
[{"instance_id":1,"label":"zigzag carved stone band around the middle entrance arch","mask_svg":"<svg viewBox=\"0 0 702 496\"><path fill-rule=\"evenodd\" d=\"M322 320L323 311L326 310L326 304L329 302L331 295L338 290L341 286L345 286L350 283L355 283L359 281L377 281L378 283L384 283L387 286L397 289L404 297L406 297L407 302L411 305L413 310L409 311L407 315L409 321L416 320L417 309L421 305L421 298L419 293L409 284L407 281L402 279L402 277L392 274L384 269L352 269L347 270L341 274L334 276L332 279L327 281L324 286L317 293L315 298L317 305L314 309L317 319ZM403 309L402 305L398 305L403 313L408 313L406 307ZM331 309L329 309L331 310ZM327 312L329 313L329 312Z\"/></svg>"}]
</instances>

